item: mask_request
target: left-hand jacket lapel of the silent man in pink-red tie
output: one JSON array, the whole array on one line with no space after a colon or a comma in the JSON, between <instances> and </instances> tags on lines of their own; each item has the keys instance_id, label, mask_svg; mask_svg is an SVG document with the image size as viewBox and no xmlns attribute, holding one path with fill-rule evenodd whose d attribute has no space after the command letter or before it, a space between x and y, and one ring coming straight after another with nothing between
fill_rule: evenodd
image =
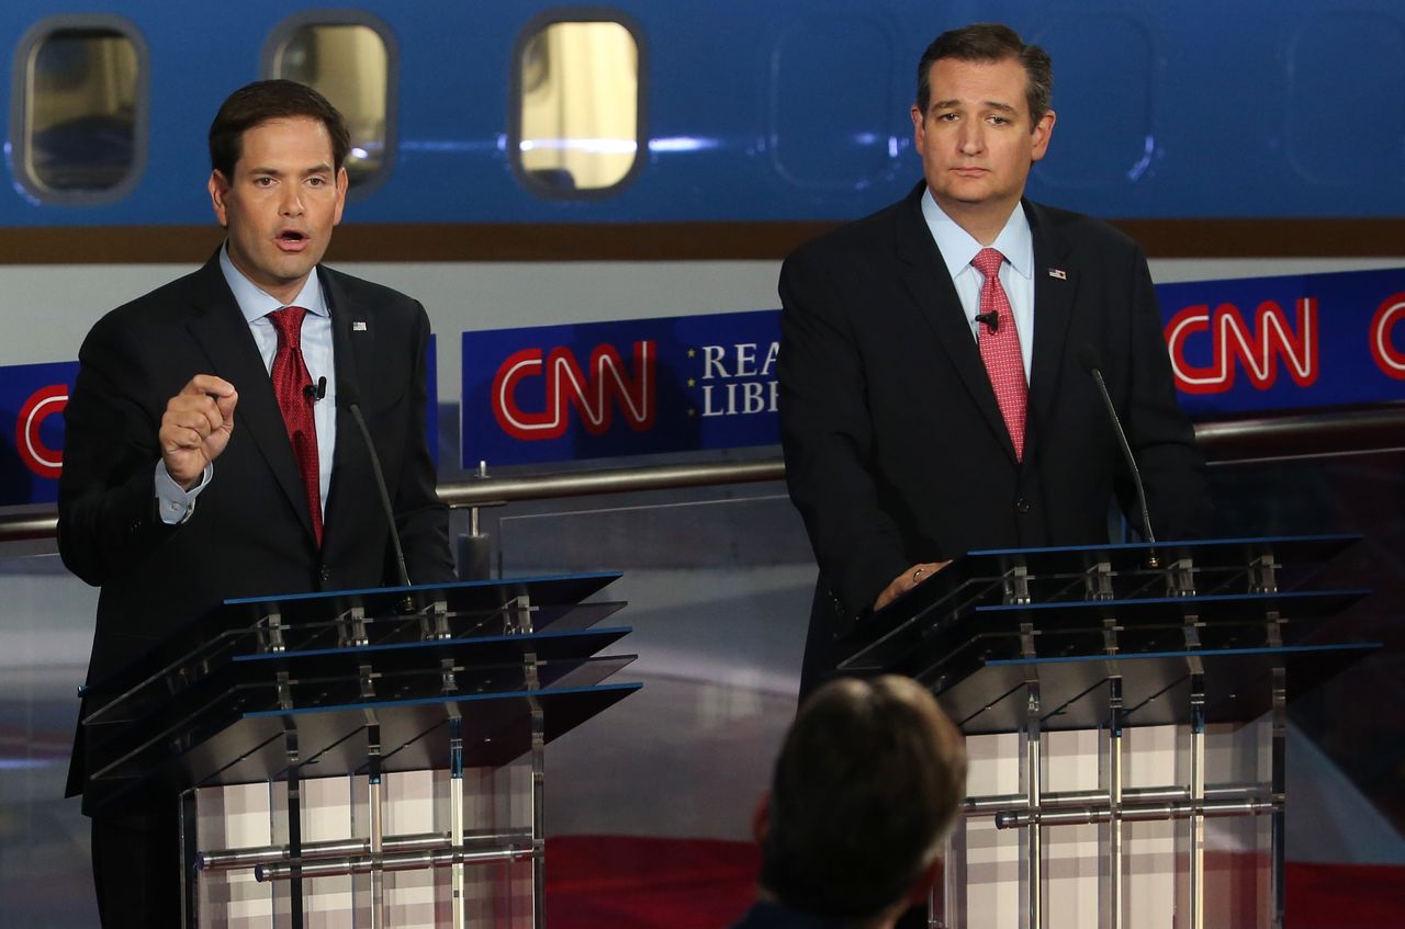
<instances>
[{"instance_id":1,"label":"left-hand jacket lapel of the silent man in pink-red tie","mask_svg":"<svg viewBox=\"0 0 1405 929\"><path fill-rule=\"evenodd\" d=\"M905 208L898 213L898 257L908 265L903 271L903 285L912 295L917 312L937 335L937 344L946 351L951 365L965 385L971 401L995 438L1005 446L1010 460L1014 460L1014 445L1005 428L1005 417L995 400L991 377L981 361L981 349L971 335L961 299L957 296L946 260L932 240L932 230L922 216L922 194L926 184L919 184L910 194Z\"/></svg>"}]
</instances>

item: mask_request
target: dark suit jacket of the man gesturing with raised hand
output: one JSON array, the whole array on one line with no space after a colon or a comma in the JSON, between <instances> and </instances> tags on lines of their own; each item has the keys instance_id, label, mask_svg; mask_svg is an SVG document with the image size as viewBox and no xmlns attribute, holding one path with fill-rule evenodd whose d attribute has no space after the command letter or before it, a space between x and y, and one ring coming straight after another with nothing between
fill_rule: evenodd
<instances>
[{"instance_id":1,"label":"dark suit jacket of the man gesturing with raised hand","mask_svg":"<svg viewBox=\"0 0 1405 929\"><path fill-rule=\"evenodd\" d=\"M358 386L410 580L452 580L447 509L424 434L424 309L329 268L318 274L332 307L337 380ZM114 674L226 598L398 582L371 459L346 410L337 411L318 549L273 383L218 255L108 313L79 361L65 411L59 552L69 570L103 588L84 713ZM167 400L197 373L235 385L235 428L190 519L167 526L155 507L157 431ZM81 728L70 796L87 779Z\"/></svg>"}]
</instances>

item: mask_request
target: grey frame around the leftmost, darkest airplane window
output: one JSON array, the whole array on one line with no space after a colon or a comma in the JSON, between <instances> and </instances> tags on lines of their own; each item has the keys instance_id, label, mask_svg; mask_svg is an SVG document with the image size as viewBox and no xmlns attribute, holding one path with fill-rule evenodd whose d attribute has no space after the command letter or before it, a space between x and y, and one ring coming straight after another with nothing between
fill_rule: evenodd
<instances>
[{"instance_id":1,"label":"grey frame around the leftmost, darkest airplane window","mask_svg":"<svg viewBox=\"0 0 1405 929\"><path fill-rule=\"evenodd\" d=\"M136 56L136 86L133 88L132 112L132 160L126 174L111 187L89 189L62 189L49 187L31 171L30 140L31 86L30 72L34 56L44 42L59 32L108 31L126 39ZM150 156L152 126L152 55L146 36L131 20L107 13L63 13L45 17L25 29L15 45L10 66L10 146L11 175L22 189L24 196L37 205L46 206L107 206L132 194L142 177Z\"/></svg>"}]
</instances>

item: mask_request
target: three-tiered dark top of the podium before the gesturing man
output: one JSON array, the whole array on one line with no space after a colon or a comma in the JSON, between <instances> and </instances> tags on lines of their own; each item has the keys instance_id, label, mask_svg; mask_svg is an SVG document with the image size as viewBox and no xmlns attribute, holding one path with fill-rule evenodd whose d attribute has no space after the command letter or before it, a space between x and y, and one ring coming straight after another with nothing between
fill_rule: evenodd
<instances>
[{"instance_id":1,"label":"three-tiered dark top of the podium before the gesturing man","mask_svg":"<svg viewBox=\"0 0 1405 929\"><path fill-rule=\"evenodd\" d=\"M226 601L90 696L83 719L90 779L104 780L114 797L143 784L263 779L289 763L288 727L296 730L301 763L318 758L326 773L333 759L330 768L348 773L365 763L365 752L344 747L365 742L368 723L385 740L382 761L395 755L410 769L447 758L443 747L427 756L424 745L444 740L424 737L469 707L472 726L489 727L482 744L472 742L473 756L506 763L525 751L524 713L549 704L552 738L638 689L601 683L634 661L599 654L629 631L596 627L624 606L592 596L618 577L597 571ZM507 740L509 730L517 741Z\"/></svg>"}]
</instances>

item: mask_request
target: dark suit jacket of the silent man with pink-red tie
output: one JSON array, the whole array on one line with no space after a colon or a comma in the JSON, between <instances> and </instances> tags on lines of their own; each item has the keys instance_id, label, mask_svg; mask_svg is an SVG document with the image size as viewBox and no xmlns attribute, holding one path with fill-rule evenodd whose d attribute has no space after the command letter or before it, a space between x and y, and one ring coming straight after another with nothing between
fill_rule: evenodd
<instances>
[{"instance_id":1,"label":"dark suit jacket of the silent man with pink-red tie","mask_svg":"<svg viewBox=\"0 0 1405 929\"><path fill-rule=\"evenodd\" d=\"M802 690L847 654L835 633L912 564L1102 543L1114 497L1135 512L1113 427L1076 361L1082 345L1102 358L1158 536L1208 528L1204 459L1176 407L1141 248L1087 216L1023 203L1034 352L1017 462L923 220L924 189L801 247L781 269L785 474L821 568Z\"/></svg>"}]
</instances>

